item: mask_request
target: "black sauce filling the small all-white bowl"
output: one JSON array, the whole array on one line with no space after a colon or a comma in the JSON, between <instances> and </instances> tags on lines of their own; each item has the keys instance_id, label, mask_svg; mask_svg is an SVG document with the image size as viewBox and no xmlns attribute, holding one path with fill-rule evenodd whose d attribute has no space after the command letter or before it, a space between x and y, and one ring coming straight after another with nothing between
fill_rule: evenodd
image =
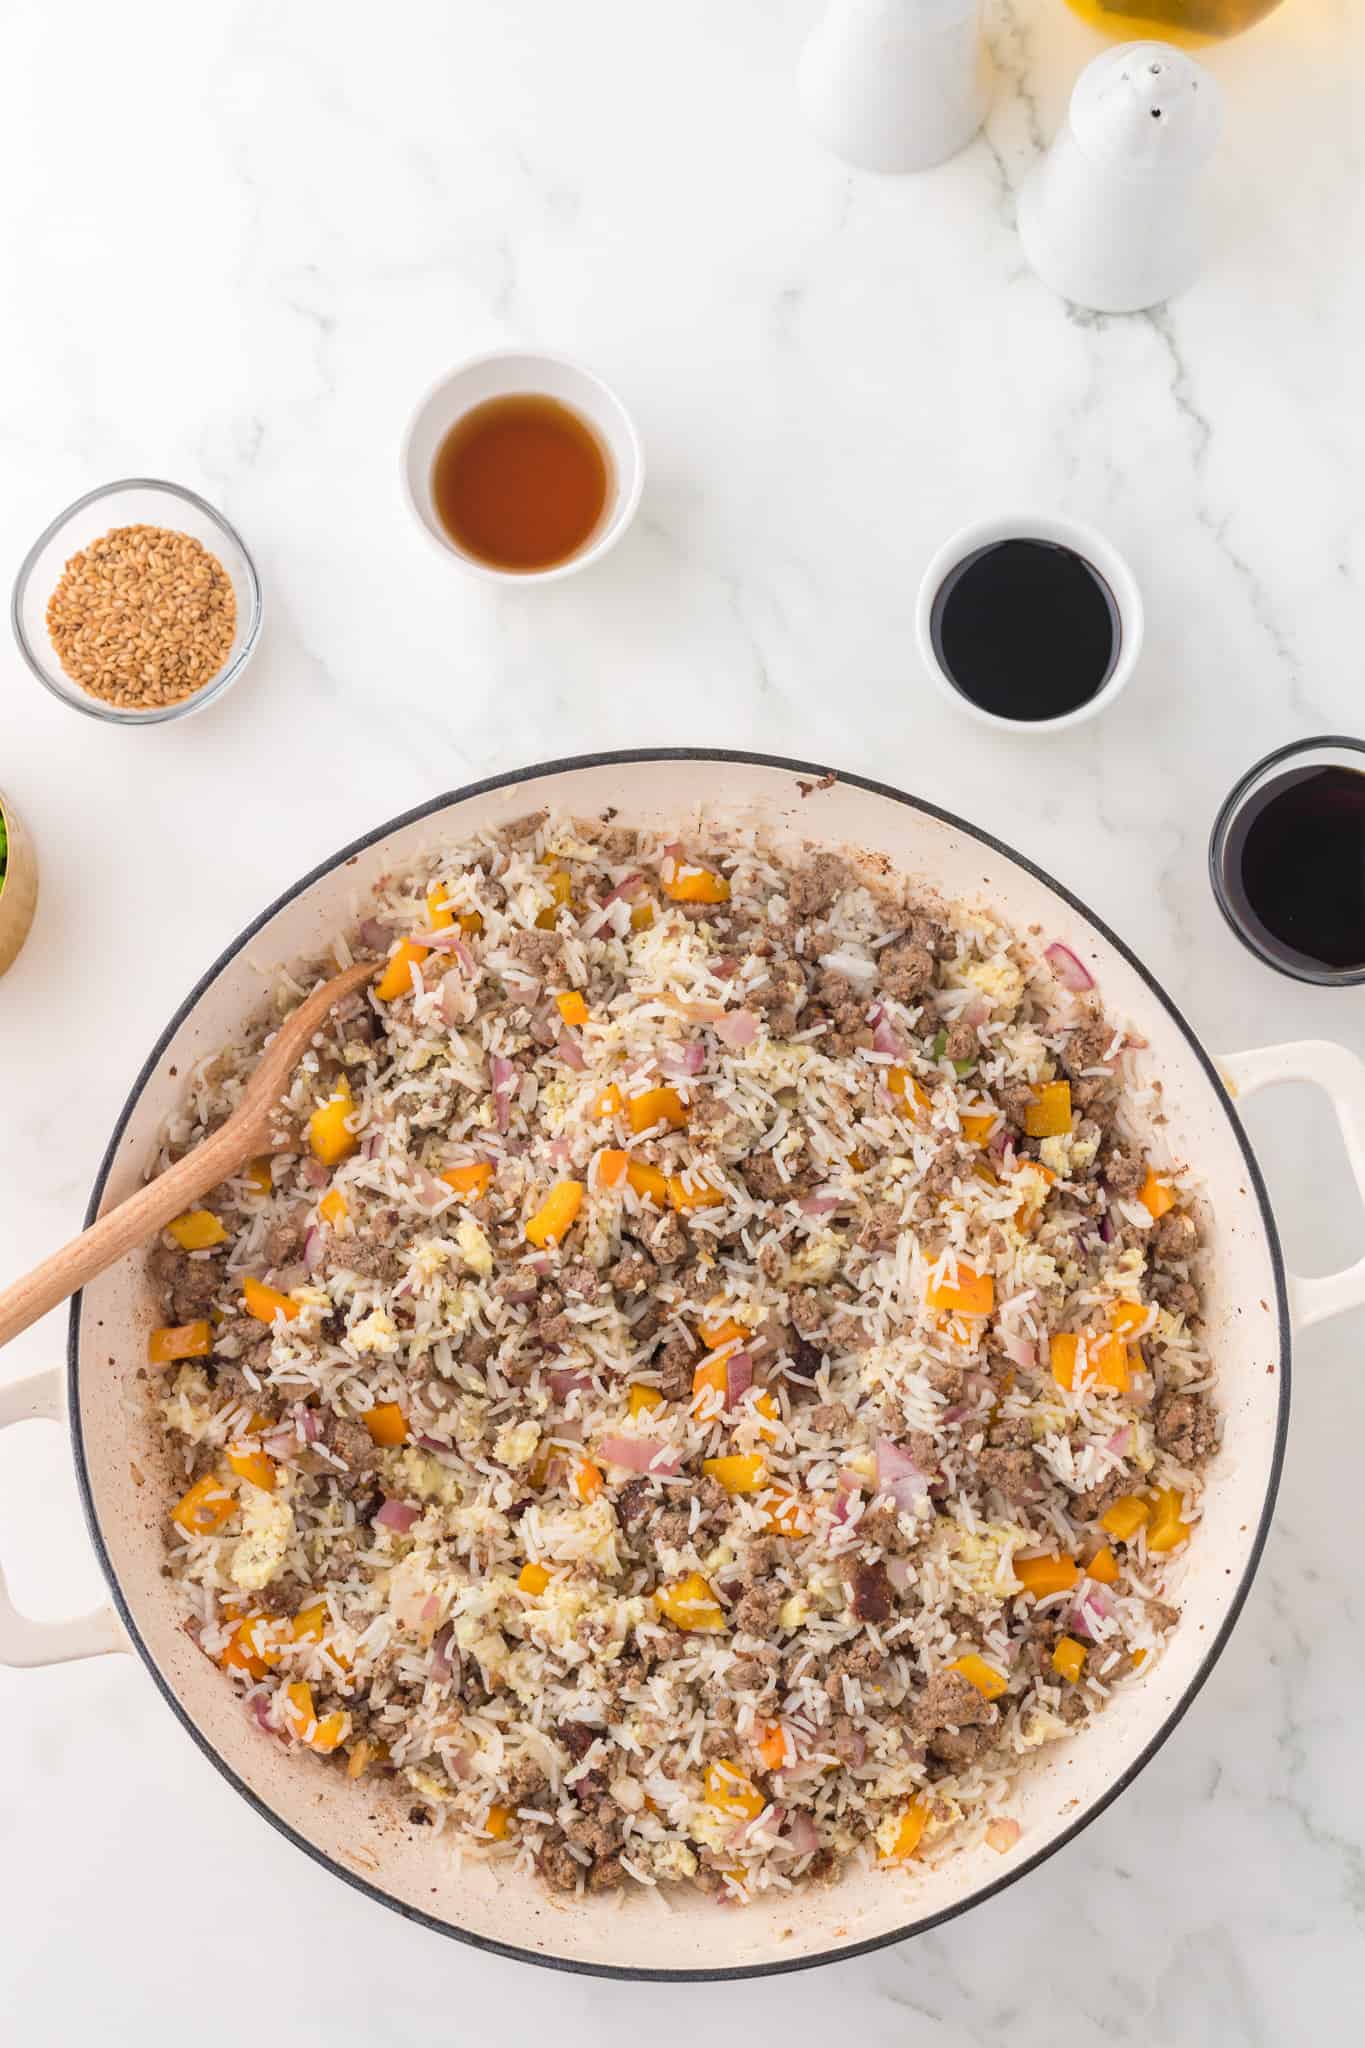
<instances>
[{"instance_id":1,"label":"black sauce filling the small all-white bowl","mask_svg":"<svg viewBox=\"0 0 1365 2048\"><path fill-rule=\"evenodd\" d=\"M943 578L929 614L954 688L997 719L1038 725L1099 696L1121 647L1099 569L1056 541L995 541Z\"/></svg>"}]
</instances>

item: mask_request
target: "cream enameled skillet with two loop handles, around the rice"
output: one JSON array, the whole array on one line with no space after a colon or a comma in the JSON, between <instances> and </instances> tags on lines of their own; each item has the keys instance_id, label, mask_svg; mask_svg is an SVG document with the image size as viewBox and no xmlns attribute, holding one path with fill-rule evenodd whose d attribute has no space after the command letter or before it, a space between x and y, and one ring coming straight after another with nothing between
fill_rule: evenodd
<instances>
[{"instance_id":1,"label":"cream enameled skillet with two loop handles, around the rice","mask_svg":"<svg viewBox=\"0 0 1365 2048\"><path fill-rule=\"evenodd\" d=\"M438 797L346 846L252 924L190 991L137 1075L100 1165L90 1217L129 1194L176 1104L176 1073L237 1034L258 1006L260 969L321 952L360 895L426 846L540 807L684 836L706 811L765 821L825 846L857 846L923 877L948 897L993 903L1017 928L1038 926L1076 952L1105 1004L1130 1020L1160 1075L1169 1137L1199 1169L1209 1237L1207 1323L1226 1415L1199 1540L1179 1597L1183 1622L1150 1679L1105 1710L1078 1741L1038 1753L1011 1800L1023 1835L1011 1855L962 1853L939 1868L853 1874L776 1903L720 1911L673 1892L565 1903L530 1880L450 1868L401 1802L356 1796L340 1772L291 1755L248 1720L223 1675L178 1624L160 1577L160 1450L137 1434L129 1395L145 1358L153 1303L127 1260L72 1303L65 1376L0 1391L0 1423L63 1417L90 1534L113 1604L63 1624L14 1612L0 1585L0 1661L41 1665L135 1649L205 1755L256 1810L336 1876L440 1933L557 1968L614 1976L745 1976L808 1968L935 1925L1023 1876L1113 1800L1171 1735L1220 1655L1246 1597L1275 1501L1289 1413L1289 1327L1365 1298L1365 1262L1322 1280L1285 1276L1275 1223L1232 1098L1271 1081L1312 1079L1334 1100L1365 1192L1365 1067L1326 1042L1209 1057L1134 954L1068 891L988 834L900 791L753 754L673 750L608 754L526 768ZM135 1438L135 1440L133 1440ZM137 1485L133 1464L145 1485Z\"/></svg>"}]
</instances>

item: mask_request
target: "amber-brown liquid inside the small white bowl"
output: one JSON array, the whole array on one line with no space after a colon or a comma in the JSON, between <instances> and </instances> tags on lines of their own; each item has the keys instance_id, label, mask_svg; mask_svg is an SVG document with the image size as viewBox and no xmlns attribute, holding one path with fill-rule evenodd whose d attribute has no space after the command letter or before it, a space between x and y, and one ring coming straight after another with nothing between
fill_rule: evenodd
<instances>
[{"instance_id":1,"label":"amber-brown liquid inside the small white bowl","mask_svg":"<svg viewBox=\"0 0 1365 2048\"><path fill-rule=\"evenodd\" d=\"M591 541L610 481L587 420L555 397L518 391L454 422L432 463L432 502L463 553L530 575Z\"/></svg>"}]
</instances>

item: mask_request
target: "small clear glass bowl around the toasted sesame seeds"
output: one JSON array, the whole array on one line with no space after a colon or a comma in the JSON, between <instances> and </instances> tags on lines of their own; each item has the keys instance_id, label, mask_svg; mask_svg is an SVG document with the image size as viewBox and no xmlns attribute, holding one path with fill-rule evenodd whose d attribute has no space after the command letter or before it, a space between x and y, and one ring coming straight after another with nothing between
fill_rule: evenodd
<instances>
[{"instance_id":1,"label":"small clear glass bowl around the toasted sesame seeds","mask_svg":"<svg viewBox=\"0 0 1365 2048\"><path fill-rule=\"evenodd\" d=\"M61 571L72 555L90 547L111 526L166 526L172 532L188 532L211 555L217 555L223 571L231 578L237 596L237 631L231 651L211 682L205 682L192 696L182 696L176 705L153 705L147 711L106 705L102 696L92 696L78 682L72 682L47 637L47 600L57 588ZM37 680L72 711L82 711L88 719L104 719L106 725L162 725L166 719L188 719L194 711L203 711L231 688L252 659L260 637L260 578L241 535L196 492L186 492L180 483L162 483L158 477L123 477L119 483L102 483L98 489L86 492L37 537L14 578L10 621L18 651Z\"/></svg>"}]
</instances>

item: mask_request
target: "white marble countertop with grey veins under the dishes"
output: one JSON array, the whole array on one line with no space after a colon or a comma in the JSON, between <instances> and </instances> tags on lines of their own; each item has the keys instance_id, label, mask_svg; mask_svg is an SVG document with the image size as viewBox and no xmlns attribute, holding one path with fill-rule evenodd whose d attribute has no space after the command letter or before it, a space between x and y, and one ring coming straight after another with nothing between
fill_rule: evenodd
<instances>
[{"instance_id":1,"label":"white marble countertop with grey veins under the dishes","mask_svg":"<svg viewBox=\"0 0 1365 2048\"><path fill-rule=\"evenodd\" d=\"M1209 1042L1365 1047L1361 995L1257 969L1203 879L1242 766L1359 731L1359 18L1287 0L1214 55L1216 256L1169 311L1093 319L1011 227L1097 47L1060 0L997 12L988 135L919 180L851 176L802 131L812 8L6 10L0 559L92 483L160 473L239 524L268 625L225 702L153 731L82 721L0 664L0 784L43 860L0 985L2 1276L76 1229L147 1044L268 897L436 791L600 745L902 782L1076 887ZM397 489L415 395L508 342L600 369L649 453L626 543L544 592L465 580ZM1029 502L1101 524L1148 604L1128 696L1054 743L964 723L911 643L933 545ZM1257 1106L1252 1128L1291 1260L1355 1255L1324 1104ZM104 1659L0 1673L6 2038L1357 2040L1359 1341L1340 1323L1300 1346L1275 1532L1185 1724L968 1919L767 1985L516 1968L313 1868L141 1667ZM51 1317L0 1372L61 1348ZM55 1430L0 1444L0 1556L33 1612L96 1595Z\"/></svg>"}]
</instances>

